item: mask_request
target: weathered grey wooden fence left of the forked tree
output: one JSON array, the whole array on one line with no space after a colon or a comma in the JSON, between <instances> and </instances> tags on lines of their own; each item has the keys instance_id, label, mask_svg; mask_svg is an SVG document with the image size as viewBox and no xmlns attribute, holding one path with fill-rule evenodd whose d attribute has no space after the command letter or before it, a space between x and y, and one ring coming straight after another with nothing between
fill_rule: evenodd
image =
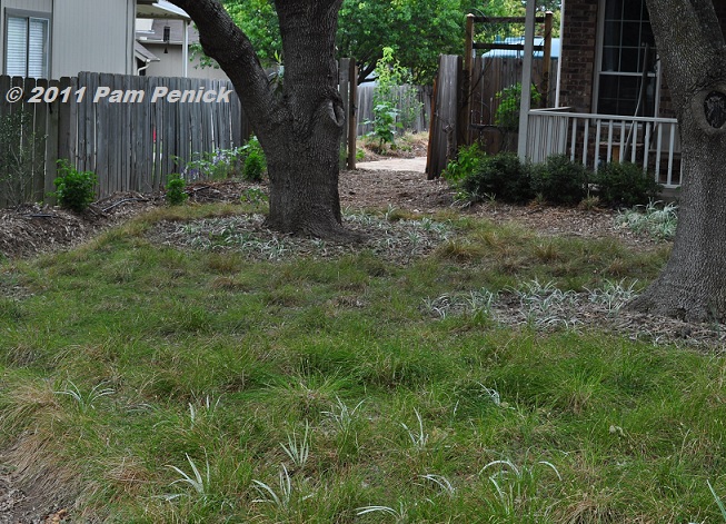
<instances>
[{"instance_id":1,"label":"weathered grey wooden fence left of the forked tree","mask_svg":"<svg viewBox=\"0 0 726 524\"><path fill-rule=\"evenodd\" d=\"M153 98L173 90L186 98ZM18 101L8 100L11 91L22 92ZM212 91L231 92L213 97ZM195 152L239 146L249 135L231 82L223 80L3 76L0 93L0 206L44 199L54 189L59 158L96 172L99 196L149 191L161 188ZM118 93L120 99L113 97ZM13 161L17 168L9 172Z\"/></svg>"}]
</instances>

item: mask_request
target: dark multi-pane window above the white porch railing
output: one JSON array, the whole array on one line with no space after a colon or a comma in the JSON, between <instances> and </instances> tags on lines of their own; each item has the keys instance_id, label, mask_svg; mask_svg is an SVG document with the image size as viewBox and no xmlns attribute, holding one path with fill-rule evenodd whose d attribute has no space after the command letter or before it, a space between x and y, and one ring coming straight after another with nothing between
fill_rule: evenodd
<instances>
[{"instance_id":1,"label":"dark multi-pane window above the white porch railing","mask_svg":"<svg viewBox=\"0 0 726 524\"><path fill-rule=\"evenodd\" d=\"M604 0L601 6L597 112L635 116L638 111L640 116L653 116L658 82L645 0ZM647 80L642 89L644 68Z\"/></svg>"}]
</instances>

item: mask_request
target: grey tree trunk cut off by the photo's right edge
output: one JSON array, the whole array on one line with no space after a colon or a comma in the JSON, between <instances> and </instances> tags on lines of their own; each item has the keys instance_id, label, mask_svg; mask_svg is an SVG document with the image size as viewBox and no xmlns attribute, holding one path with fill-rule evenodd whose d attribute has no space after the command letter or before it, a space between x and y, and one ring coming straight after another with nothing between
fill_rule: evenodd
<instances>
[{"instance_id":1,"label":"grey tree trunk cut off by the photo's right edge","mask_svg":"<svg viewBox=\"0 0 726 524\"><path fill-rule=\"evenodd\" d=\"M680 125L684 177L673 254L631 307L726 319L726 45L712 0L646 0Z\"/></svg>"}]
</instances>

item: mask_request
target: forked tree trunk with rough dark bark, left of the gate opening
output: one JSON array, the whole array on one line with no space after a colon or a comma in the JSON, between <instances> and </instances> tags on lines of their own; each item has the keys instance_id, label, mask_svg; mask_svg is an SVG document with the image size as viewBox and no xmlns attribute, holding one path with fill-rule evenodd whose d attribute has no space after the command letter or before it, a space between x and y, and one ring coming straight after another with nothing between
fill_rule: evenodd
<instances>
[{"instance_id":1,"label":"forked tree trunk with rough dark bark, left of the gate opening","mask_svg":"<svg viewBox=\"0 0 726 524\"><path fill-rule=\"evenodd\" d=\"M270 179L268 226L284 233L356 239L341 226L338 195L345 113L335 37L342 0L275 1L285 70L274 81L219 0L171 2L197 24L205 52L232 81L265 150Z\"/></svg>"}]
</instances>

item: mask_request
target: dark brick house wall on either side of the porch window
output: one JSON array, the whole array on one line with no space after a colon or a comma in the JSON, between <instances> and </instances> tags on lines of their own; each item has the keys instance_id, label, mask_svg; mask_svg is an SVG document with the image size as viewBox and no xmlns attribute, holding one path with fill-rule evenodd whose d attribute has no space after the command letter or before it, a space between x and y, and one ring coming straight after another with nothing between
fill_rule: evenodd
<instances>
[{"instance_id":1,"label":"dark brick house wall on either side of the porch window","mask_svg":"<svg viewBox=\"0 0 726 524\"><path fill-rule=\"evenodd\" d=\"M565 23L561 38L561 80L559 105L576 112L594 112L598 41L599 1L566 0ZM714 1L722 30L726 37L726 2ZM659 116L674 117L670 95L665 78L662 79Z\"/></svg>"}]
</instances>

